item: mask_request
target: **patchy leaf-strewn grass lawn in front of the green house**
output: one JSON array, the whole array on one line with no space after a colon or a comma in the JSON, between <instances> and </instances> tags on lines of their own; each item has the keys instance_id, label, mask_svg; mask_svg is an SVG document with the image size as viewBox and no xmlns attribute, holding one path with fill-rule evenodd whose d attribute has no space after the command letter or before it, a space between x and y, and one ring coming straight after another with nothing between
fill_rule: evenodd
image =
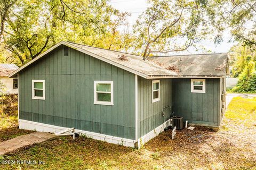
<instances>
[{"instance_id":1,"label":"patchy leaf-strewn grass lawn in front of the green house","mask_svg":"<svg viewBox=\"0 0 256 170\"><path fill-rule=\"evenodd\" d=\"M0 160L39 160L42 165L1 165L0 169L256 169L256 99L235 97L219 130L196 126L190 142L184 129L171 139L171 130L136 150L79 137L61 137L21 148Z\"/></svg>"}]
</instances>

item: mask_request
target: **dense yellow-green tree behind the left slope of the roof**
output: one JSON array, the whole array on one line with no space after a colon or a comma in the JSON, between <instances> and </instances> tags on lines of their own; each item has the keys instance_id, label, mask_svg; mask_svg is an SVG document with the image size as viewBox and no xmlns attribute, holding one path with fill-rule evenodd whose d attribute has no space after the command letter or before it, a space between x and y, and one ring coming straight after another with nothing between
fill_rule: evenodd
<instances>
[{"instance_id":1,"label":"dense yellow-green tree behind the left slope of the roof","mask_svg":"<svg viewBox=\"0 0 256 170\"><path fill-rule=\"evenodd\" d=\"M0 43L20 65L60 40L105 47L111 16L118 14L107 0L5 0L0 4L4 39Z\"/></svg>"}]
</instances>

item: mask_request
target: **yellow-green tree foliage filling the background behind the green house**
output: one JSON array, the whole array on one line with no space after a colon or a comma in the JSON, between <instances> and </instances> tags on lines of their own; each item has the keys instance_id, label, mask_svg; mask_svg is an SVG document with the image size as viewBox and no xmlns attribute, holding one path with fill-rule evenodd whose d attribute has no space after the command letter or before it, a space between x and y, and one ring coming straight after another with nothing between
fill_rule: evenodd
<instances>
[{"instance_id":1,"label":"yellow-green tree foliage filling the background behind the green house","mask_svg":"<svg viewBox=\"0 0 256 170\"><path fill-rule=\"evenodd\" d=\"M146 60L204 49L199 46L204 39L221 43L228 30L230 41L238 42L230 50L232 73L239 77L234 91L254 91L256 0L148 0L132 30L124 26L130 13L109 2L0 1L0 62L21 66L61 40L139 54Z\"/></svg>"}]
</instances>

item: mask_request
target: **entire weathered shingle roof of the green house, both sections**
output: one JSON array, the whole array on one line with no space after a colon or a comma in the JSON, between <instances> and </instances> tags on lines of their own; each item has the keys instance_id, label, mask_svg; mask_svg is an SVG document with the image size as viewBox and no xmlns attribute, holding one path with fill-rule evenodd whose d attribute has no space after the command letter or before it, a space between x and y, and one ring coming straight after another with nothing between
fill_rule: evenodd
<instances>
[{"instance_id":1,"label":"entire weathered shingle roof of the green house, both sections","mask_svg":"<svg viewBox=\"0 0 256 170\"><path fill-rule=\"evenodd\" d=\"M223 76L225 75L225 67L227 66L227 54L203 54L203 55L182 55L182 56L166 56L166 57L150 57L149 61L143 61L141 56L117 52L103 48L91 47L67 41L61 41L43 54L34 58L27 64L23 65L17 71L11 73L9 77L14 77L28 65L33 64L39 58L50 53L59 46L68 46L82 53L91 55L99 60L115 65L137 74L143 78L154 77L179 77L186 76ZM127 61L119 60L120 56L125 56ZM175 65L180 72L167 70L166 67Z\"/></svg>"}]
</instances>

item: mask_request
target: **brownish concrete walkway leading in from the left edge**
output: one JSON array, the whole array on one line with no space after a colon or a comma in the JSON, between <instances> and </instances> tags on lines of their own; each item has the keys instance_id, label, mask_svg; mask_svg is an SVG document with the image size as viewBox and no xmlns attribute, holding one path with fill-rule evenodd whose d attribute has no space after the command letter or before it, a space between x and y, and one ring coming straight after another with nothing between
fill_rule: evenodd
<instances>
[{"instance_id":1,"label":"brownish concrete walkway leading in from the left edge","mask_svg":"<svg viewBox=\"0 0 256 170\"><path fill-rule=\"evenodd\" d=\"M0 142L0 155L16 150L23 146L33 145L57 137L52 133L34 132Z\"/></svg>"}]
</instances>

